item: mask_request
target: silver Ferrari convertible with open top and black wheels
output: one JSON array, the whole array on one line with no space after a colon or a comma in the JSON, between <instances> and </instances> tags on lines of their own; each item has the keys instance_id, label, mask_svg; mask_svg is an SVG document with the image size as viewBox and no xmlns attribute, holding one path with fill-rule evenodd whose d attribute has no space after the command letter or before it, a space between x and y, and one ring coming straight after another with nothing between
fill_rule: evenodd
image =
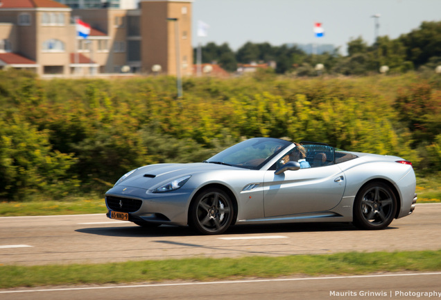
<instances>
[{"instance_id":1,"label":"silver Ferrari convertible with open top and black wheels","mask_svg":"<svg viewBox=\"0 0 441 300\"><path fill-rule=\"evenodd\" d=\"M236 224L353 222L387 227L415 208L412 164L276 138L240 142L202 163L134 169L105 194L107 217L219 234Z\"/></svg>"}]
</instances>

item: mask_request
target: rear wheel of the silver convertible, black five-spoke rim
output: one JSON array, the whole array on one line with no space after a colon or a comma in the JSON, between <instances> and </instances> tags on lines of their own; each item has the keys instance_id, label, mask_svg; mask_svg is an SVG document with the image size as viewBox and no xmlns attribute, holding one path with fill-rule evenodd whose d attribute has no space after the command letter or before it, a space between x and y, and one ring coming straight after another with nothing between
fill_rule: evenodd
<instances>
[{"instance_id":1,"label":"rear wheel of the silver convertible, black five-spoke rim","mask_svg":"<svg viewBox=\"0 0 441 300\"><path fill-rule=\"evenodd\" d=\"M381 182L365 185L354 201L354 225L376 230L389 226L397 212L397 198L392 189Z\"/></svg>"}]
</instances>

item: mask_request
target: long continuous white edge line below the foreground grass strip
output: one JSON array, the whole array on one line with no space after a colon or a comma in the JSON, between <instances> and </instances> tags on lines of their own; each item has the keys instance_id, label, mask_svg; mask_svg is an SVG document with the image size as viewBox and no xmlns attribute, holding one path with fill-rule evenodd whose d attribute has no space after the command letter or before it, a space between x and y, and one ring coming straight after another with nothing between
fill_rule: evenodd
<instances>
[{"instance_id":1,"label":"long continuous white edge line below the foreground grass strip","mask_svg":"<svg viewBox=\"0 0 441 300\"><path fill-rule=\"evenodd\" d=\"M98 286L98 287L87 287L87 288L54 288L54 289L44 289L44 290L9 290L9 291L6 290L6 291L0 291L0 294L12 294L12 293L24 293L24 292L67 292L67 291L74 291L74 290L110 290L110 289L121 289L121 288L155 288L155 287L171 287L171 286L182 286L182 285L215 285L215 284L218 285L218 284L233 284L233 283L263 283L263 282L276 282L276 281L318 281L318 280L347 279L347 278L376 278L376 277L428 276L428 275L441 275L441 272L331 276L331 277L306 277L306 278L274 278L274 279L256 279L256 280L243 280L243 281L158 283L158 284L145 284L145 285L111 285L111 286Z\"/></svg>"}]
</instances>

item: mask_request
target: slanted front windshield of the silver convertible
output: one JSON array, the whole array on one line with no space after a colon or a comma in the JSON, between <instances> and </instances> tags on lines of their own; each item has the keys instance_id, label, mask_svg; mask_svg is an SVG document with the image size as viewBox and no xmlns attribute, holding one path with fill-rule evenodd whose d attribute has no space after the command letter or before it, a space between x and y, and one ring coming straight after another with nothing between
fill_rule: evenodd
<instances>
[{"instance_id":1,"label":"slanted front windshield of the silver convertible","mask_svg":"<svg viewBox=\"0 0 441 300\"><path fill-rule=\"evenodd\" d=\"M276 138L252 138L225 149L205 160L205 163L232 165L247 169L260 169L277 153L292 144Z\"/></svg>"}]
</instances>

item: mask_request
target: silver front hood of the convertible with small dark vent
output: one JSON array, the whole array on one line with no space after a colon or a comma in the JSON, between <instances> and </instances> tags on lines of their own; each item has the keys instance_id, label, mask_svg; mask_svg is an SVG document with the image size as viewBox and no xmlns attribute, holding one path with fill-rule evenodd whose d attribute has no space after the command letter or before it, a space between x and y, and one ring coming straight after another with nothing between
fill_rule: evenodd
<instances>
[{"instance_id":1,"label":"silver front hood of the convertible with small dark vent","mask_svg":"<svg viewBox=\"0 0 441 300\"><path fill-rule=\"evenodd\" d=\"M221 170L246 170L239 167L227 165L216 165L213 163L188 163L188 164L157 164L139 167L130 176L116 185L123 185L132 188L144 188L155 190L160 186L187 175L196 175L204 172Z\"/></svg>"}]
</instances>

